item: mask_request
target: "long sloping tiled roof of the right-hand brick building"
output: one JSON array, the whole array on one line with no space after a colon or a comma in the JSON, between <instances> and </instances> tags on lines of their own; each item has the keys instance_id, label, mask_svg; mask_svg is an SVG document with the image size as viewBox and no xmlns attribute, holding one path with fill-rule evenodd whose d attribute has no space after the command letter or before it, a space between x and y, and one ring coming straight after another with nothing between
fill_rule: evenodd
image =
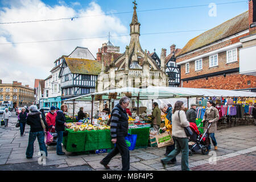
<instances>
[{"instance_id":1,"label":"long sloping tiled roof of the right-hand brick building","mask_svg":"<svg viewBox=\"0 0 256 182\"><path fill-rule=\"evenodd\" d=\"M244 31L249 28L248 23L248 11L238 15L217 27L214 27L203 34L196 36L195 38L189 40L189 42L181 49L181 51L176 56L184 55L185 53L194 51L201 47L207 46L218 40L227 38L238 32Z\"/></svg>"}]
</instances>

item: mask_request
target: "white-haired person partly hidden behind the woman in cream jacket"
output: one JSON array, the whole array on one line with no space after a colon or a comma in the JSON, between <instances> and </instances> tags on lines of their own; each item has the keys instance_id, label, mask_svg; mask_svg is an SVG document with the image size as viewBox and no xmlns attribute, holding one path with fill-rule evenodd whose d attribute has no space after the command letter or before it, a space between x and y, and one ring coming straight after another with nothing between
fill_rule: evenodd
<instances>
[{"instance_id":1,"label":"white-haired person partly hidden behind the woman in cream jacket","mask_svg":"<svg viewBox=\"0 0 256 182\"><path fill-rule=\"evenodd\" d=\"M163 127L163 131L170 131L172 134L172 106L168 107L168 105L166 104L162 104L160 106L160 109L162 110L162 112L165 114L165 118L164 118L164 127ZM166 154L164 155L168 155L170 154L171 151L173 151L175 149L175 143L171 144L170 146L166 147ZM168 162L167 164L175 164L176 163L176 157L172 160L170 160L170 162Z\"/></svg>"}]
</instances>

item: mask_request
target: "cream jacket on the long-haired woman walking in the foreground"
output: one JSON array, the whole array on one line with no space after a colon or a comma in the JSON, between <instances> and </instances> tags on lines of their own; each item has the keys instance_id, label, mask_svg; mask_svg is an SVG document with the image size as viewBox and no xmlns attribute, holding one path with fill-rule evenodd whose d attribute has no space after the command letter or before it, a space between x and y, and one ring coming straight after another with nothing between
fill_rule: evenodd
<instances>
[{"instance_id":1,"label":"cream jacket on the long-haired woman walking in the foreground","mask_svg":"<svg viewBox=\"0 0 256 182\"><path fill-rule=\"evenodd\" d=\"M180 119L179 119L179 110L176 110L172 114L172 136L179 138L187 138L187 135L184 131L184 127L189 126L186 114L183 110L180 110Z\"/></svg>"}]
</instances>

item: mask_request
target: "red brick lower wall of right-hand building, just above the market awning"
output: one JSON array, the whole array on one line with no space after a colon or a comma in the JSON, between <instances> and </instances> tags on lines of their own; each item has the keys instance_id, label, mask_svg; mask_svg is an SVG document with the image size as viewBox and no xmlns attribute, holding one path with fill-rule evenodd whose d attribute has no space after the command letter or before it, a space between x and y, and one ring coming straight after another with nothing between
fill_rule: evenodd
<instances>
[{"instance_id":1,"label":"red brick lower wall of right-hand building, just above the market awning","mask_svg":"<svg viewBox=\"0 0 256 182\"><path fill-rule=\"evenodd\" d=\"M247 84L247 81L250 81L250 85ZM208 77L208 80L200 78L188 82L183 81L183 87L225 90L256 88L256 76L241 75L238 72L230 73L226 77L220 75Z\"/></svg>"}]
</instances>

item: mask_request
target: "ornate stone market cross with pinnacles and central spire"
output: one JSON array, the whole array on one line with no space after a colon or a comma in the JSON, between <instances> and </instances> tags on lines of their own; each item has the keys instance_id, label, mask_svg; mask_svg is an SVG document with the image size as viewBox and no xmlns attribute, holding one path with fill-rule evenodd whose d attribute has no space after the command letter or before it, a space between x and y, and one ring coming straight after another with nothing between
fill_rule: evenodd
<instances>
[{"instance_id":1,"label":"ornate stone market cross with pinnacles and central spire","mask_svg":"<svg viewBox=\"0 0 256 182\"><path fill-rule=\"evenodd\" d=\"M134 5L133 19L130 23L130 44L126 51L110 65L104 67L104 59L101 59L101 73L97 79L97 92L102 90L134 87L146 88L147 86L168 86L168 76L164 69L164 49L160 56L161 65L158 64L143 51L139 43L140 26Z\"/></svg>"}]
</instances>

